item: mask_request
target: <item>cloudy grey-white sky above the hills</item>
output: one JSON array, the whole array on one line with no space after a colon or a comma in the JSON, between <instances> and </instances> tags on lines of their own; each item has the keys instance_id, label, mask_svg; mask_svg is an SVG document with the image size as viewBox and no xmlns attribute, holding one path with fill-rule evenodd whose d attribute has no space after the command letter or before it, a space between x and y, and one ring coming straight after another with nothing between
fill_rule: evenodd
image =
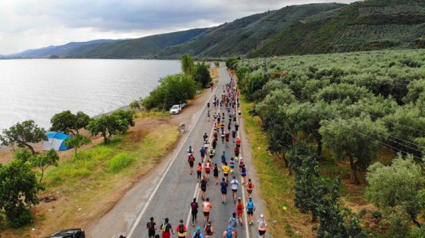
<instances>
[{"instance_id":1,"label":"cloudy grey-white sky above the hills","mask_svg":"<svg viewBox=\"0 0 425 238\"><path fill-rule=\"evenodd\" d=\"M287 5L355 0L1 0L0 54L210 27Z\"/></svg>"}]
</instances>

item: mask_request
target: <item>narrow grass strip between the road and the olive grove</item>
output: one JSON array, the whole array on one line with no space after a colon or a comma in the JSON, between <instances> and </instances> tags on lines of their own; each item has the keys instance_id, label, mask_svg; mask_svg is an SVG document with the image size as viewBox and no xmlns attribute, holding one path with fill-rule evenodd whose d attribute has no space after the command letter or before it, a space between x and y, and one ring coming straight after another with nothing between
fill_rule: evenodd
<instances>
[{"instance_id":1,"label":"narrow grass strip between the road and the olive grove","mask_svg":"<svg viewBox=\"0 0 425 238\"><path fill-rule=\"evenodd\" d=\"M270 156L266 151L267 136L261 131L259 118L249 115L253 104L247 103L242 96L241 111L244 128L252 147L253 163L262 186L261 197L267 207L269 229L273 237L311 237L310 217L303 215L293 206L293 177L288 176L284 162ZM286 209L286 210L285 210ZM272 224L270 220L276 220ZM295 234L299 231L300 234Z\"/></svg>"}]
</instances>

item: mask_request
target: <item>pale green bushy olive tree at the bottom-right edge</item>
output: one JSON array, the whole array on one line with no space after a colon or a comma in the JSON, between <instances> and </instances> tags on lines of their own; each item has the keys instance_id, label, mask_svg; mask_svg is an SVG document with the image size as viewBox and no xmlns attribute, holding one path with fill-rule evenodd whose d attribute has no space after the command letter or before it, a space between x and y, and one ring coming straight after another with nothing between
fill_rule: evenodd
<instances>
[{"instance_id":1,"label":"pale green bushy olive tree at the bottom-right edge","mask_svg":"<svg viewBox=\"0 0 425 238\"><path fill-rule=\"evenodd\" d=\"M404 159L399 154L389 166L369 166L366 181L366 198L376 207L394 212L399 206L420 227L417 216L425 209L425 178L411 155Z\"/></svg>"}]
</instances>

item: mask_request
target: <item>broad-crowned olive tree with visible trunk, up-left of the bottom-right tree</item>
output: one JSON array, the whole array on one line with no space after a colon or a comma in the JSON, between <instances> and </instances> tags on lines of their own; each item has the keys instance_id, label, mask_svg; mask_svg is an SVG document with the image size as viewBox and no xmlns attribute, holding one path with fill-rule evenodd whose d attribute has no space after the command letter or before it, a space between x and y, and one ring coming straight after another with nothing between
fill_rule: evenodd
<instances>
[{"instance_id":1,"label":"broad-crowned olive tree with visible trunk, up-left of the bottom-right tree","mask_svg":"<svg viewBox=\"0 0 425 238\"><path fill-rule=\"evenodd\" d=\"M319 133L324 144L337 159L347 157L351 168L351 181L359 184L357 171L365 170L376 157L379 142L384 141L386 129L381 121L368 116L334 119L321 122Z\"/></svg>"}]
</instances>

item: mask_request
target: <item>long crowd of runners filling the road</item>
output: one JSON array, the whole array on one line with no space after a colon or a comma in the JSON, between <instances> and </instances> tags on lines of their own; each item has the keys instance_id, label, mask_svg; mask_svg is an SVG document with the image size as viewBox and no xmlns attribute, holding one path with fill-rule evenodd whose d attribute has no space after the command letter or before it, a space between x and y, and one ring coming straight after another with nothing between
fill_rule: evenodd
<instances>
[{"instance_id":1,"label":"long crowd of runners filling the road","mask_svg":"<svg viewBox=\"0 0 425 238\"><path fill-rule=\"evenodd\" d=\"M229 209L234 211L231 217L224 221L227 229L222 234L223 238L237 238L237 230L238 227L242 226L242 218L245 211L248 226L254 226L253 212L255 211L255 204L251 195L255 186L251 179L248 178L246 180L248 171L243 158L240 156L241 140L238 137L239 125L237 124L238 117L241 114L239 105L239 92L236 89L232 75L230 75L230 82L222 86L221 96L216 97L214 95L212 103L207 102L206 117L208 122L212 122L213 132L211 133L211 138L209 138L207 133L202 136L202 147L198 152L199 159L195 159L195 151L191 146L187 149L189 174L194 174L193 167L195 167L196 183L202 200L199 204L196 198L193 198L189 206L191 225L192 227L196 226L195 232L186 236L188 229L183 220L180 220L179 224L173 229L168 218L165 218L164 222L159 226L156 225L153 218L150 218L150 221L146 224L149 238L159 238L159 235L155 235L157 229L161 231L162 238L170 238L171 234L176 234L179 238L220 237L221 235L214 234L216 232L221 233L221 231L215 231L212 222L209 220L210 214L213 213L213 207L207 196L207 190L208 193L220 193L222 206L231 206ZM212 110L212 113L210 110ZM230 137L231 143L229 142ZM220 143L221 146L218 146ZM219 150L217 147L223 149ZM229 147L233 147L233 155L226 154L224 148ZM217 150L222 152L217 152ZM212 177L210 176L211 172ZM231 190L230 199L233 200L232 205L227 205L228 189ZM246 191L248 197L246 203L243 203L242 199L237 196L238 191L239 193ZM201 225L202 222L199 224L197 222L199 211L203 213L203 225ZM264 238L267 224L262 214L256 221L255 226L258 228L259 238Z\"/></svg>"}]
</instances>

